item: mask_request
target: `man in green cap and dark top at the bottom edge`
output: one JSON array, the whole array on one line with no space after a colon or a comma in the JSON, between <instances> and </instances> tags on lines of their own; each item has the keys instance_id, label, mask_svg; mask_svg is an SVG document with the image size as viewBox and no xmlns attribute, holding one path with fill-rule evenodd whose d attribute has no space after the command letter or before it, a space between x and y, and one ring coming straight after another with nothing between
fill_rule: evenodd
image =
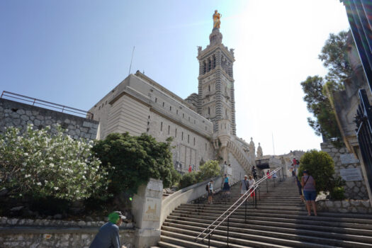
<instances>
[{"instance_id":1,"label":"man in green cap and dark top at the bottom edge","mask_svg":"<svg viewBox=\"0 0 372 248\"><path fill-rule=\"evenodd\" d=\"M121 248L119 238L119 226L125 220L125 216L119 211L108 215L108 222L103 225L89 248Z\"/></svg>"}]
</instances>

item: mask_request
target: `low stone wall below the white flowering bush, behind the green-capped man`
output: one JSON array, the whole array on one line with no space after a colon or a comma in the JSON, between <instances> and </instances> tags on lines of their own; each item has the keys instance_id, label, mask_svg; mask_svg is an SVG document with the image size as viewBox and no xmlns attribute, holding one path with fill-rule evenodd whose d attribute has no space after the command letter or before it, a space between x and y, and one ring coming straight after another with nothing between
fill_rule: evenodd
<instances>
[{"instance_id":1,"label":"low stone wall below the white flowering bush, behind the green-capped man","mask_svg":"<svg viewBox=\"0 0 372 248\"><path fill-rule=\"evenodd\" d=\"M0 218L0 247L88 248L103 221L30 220ZM119 230L120 242L133 247L133 223L123 223Z\"/></svg>"}]
</instances>

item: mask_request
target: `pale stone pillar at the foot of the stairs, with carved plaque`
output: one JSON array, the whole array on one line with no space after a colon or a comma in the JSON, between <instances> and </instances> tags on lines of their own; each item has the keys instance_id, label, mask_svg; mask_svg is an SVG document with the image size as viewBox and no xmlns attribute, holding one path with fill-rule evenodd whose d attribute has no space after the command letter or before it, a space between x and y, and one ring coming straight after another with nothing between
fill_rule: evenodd
<instances>
[{"instance_id":1,"label":"pale stone pillar at the foot of the stairs, with carved plaque","mask_svg":"<svg viewBox=\"0 0 372 248\"><path fill-rule=\"evenodd\" d=\"M160 240L160 214L162 210L162 180L150 179L133 196L132 213L135 220L135 247L157 245Z\"/></svg>"}]
</instances>

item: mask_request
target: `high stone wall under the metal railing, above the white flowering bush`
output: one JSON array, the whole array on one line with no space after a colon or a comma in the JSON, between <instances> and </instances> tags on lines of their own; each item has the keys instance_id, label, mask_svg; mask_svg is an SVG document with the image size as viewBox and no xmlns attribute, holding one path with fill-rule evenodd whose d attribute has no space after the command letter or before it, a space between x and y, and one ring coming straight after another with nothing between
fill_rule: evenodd
<instances>
[{"instance_id":1,"label":"high stone wall under the metal railing, above the white flowering bush","mask_svg":"<svg viewBox=\"0 0 372 248\"><path fill-rule=\"evenodd\" d=\"M68 135L89 140L96 138L98 129L96 120L0 98L0 133L3 133L6 127L26 130L28 124L33 124L36 128L60 124L62 128L67 129Z\"/></svg>"}]
</instances>

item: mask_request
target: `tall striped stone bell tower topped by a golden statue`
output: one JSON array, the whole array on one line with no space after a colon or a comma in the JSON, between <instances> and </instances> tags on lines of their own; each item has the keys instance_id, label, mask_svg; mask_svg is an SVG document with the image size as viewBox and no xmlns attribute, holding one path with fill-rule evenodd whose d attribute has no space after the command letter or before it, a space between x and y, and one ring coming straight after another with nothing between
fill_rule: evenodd
<instances>
[{"instance_id":1,"label":"tall striped stone bell tower topped by a golden statue","mask_svg":"<svg viewBox=\"0 0 372 248\"><path fill-rule=\"evenodd\" d=\"M198 47L198 113L213 122L218 132L220 120L230 120L230 134L236 135L235 97L232 64L234 50L222 44L220 33L221 14L213 14L213 30L209 35L210 44L202 50Z\"/></svg>"}]
</instances>

